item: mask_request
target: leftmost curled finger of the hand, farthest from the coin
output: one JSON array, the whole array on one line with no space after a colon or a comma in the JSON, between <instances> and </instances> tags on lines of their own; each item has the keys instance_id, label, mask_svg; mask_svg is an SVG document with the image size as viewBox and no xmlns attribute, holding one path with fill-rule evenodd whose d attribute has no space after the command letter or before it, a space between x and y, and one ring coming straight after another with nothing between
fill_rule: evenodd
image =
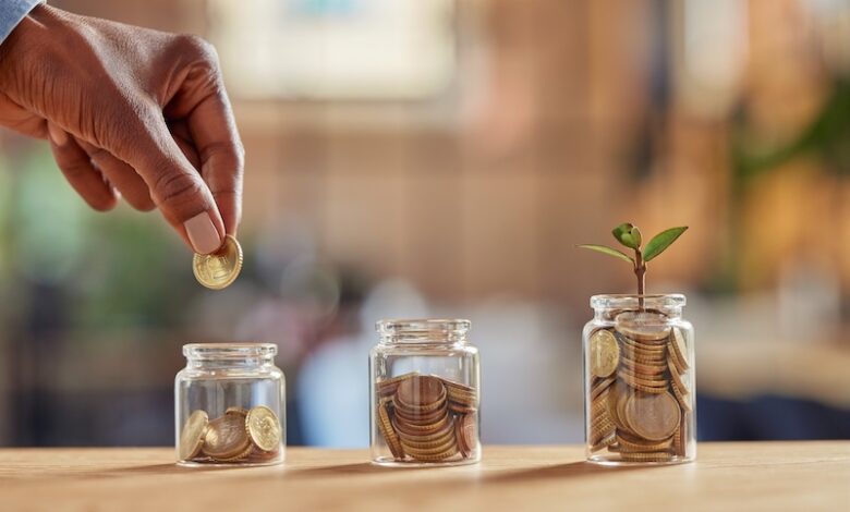
<instances>
[{"instance_id":1,"label":"leftmost curled finger of the hand, farthest from the coin","mask_svg":"<svg viewBox=\"0 0 850 512\"><path fill-rule=\"evenodd\" d=\"M52 123L47 126L53 158L71 186L92 208L98 211L114 208L118 193L93 166L86 151L62 129Z\"/></svg>"}]
</instances>

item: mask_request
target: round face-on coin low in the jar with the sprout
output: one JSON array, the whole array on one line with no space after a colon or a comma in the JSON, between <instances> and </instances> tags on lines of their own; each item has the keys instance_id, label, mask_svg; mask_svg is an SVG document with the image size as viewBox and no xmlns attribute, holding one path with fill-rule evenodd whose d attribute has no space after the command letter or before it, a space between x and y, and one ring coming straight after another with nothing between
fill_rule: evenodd
<instances>
[{"instance_id":1,"label":"round face-on coin low in the jar with the sprout","mask_svg":"<svg viewBox=\"0 0 850 512\"><path fill-rule=\"evenodd\" d=\"M682 418L679 402L668 392L635 393L626 404L631 430L649 441L664 441L676 431Z\"/></svg>"}]
</instances>

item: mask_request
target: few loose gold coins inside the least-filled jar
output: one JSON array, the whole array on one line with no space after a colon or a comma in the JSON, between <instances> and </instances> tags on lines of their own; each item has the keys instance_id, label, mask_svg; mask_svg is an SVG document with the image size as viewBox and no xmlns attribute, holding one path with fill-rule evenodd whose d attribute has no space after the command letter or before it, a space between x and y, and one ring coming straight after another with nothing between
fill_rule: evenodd
<instances>
[{"instance_id":1,"label":"few loose gold coins inside the least-filled jar","mask_svg":"<svg viewBox=\"0 0 850 512\"><path fill-rule=\"evenodd\" d=\"M248 410L229 407L216 419L194 411L180 435L181 461L206 463L264 463L280 455L282 429L265 405Z\"/></svg>"}]
</instances>

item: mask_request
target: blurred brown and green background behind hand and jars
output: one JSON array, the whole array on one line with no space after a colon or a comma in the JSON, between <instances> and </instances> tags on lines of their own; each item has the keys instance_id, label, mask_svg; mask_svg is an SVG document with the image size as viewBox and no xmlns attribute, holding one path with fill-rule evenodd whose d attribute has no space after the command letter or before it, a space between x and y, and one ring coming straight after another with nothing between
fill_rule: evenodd
<instances>
[{"instance_id":1,"label":"blurred brown and green background behind hand and jars","mask_svg":"<svg viewBox=\"0 0 850 512\"><path fill-rule=\"evenodd\" d=\"M699 436L850 438L850 1L54 0L218 48L246 148L226 291L157 214L0 134L0 444L170 444L190 341L279 345L292 444L368 442L385 317L470 318L486 442L582 439L581 327L691 230Z\"/></svg>"}]
</instances>

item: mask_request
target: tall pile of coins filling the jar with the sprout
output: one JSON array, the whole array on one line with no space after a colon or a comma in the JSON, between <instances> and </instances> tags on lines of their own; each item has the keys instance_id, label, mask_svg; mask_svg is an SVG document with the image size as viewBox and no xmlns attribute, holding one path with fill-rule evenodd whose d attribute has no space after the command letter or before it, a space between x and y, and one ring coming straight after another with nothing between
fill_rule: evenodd
<instances>
[{"instance_id":1,"label":"tall pile of coins filling the jar with the sprout","mask_svg":"<svg viewBox=\"0 0 850 512\"><path fill-rule=\"evenodd\" d=\"M687 455L693 411L684 334L653 313L626 312L590 339L591 452L628 462Z\"/></svg>"}]
</instances>

